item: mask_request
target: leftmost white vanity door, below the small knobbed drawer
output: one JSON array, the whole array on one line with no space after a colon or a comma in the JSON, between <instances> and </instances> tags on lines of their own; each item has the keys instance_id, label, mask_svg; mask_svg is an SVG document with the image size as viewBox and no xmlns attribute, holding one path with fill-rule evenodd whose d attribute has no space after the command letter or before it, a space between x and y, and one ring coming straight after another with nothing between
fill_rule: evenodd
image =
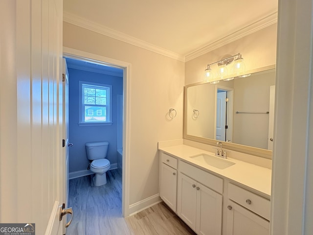
<instances>
[{"instance_id":1,"label":"leftmost white vanity door, below the small knobbed drawer","mask_svg":"<svg viewBox=\"0 0 313 235\"><path fill-rule=\"evenodd\" d=\"M177 170L164 163L161 164L160 197L176 212Z\"/></svg>"}]
</instances>

